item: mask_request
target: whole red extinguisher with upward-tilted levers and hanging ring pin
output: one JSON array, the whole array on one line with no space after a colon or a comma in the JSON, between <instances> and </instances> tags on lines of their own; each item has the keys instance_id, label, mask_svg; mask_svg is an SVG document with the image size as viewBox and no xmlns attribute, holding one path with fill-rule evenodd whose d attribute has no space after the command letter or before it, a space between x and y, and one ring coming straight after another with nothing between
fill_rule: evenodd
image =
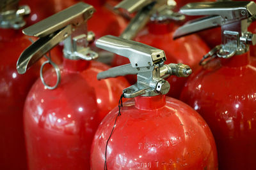
<instances>
[{"instance_id":1,"label":"whole red extinguisher with upward-tilted levers and hanging ring pin","mask_svg":"<svg viewBox=\"0 0 256 170\"><path fill-rule=\"evenodd\" d=\"M129 86L123 78L96 79L97 73L109 67L91 61L98 55L88 47L94 36L87 33L86 21L94 11L78 3L23 30L39 39L20 55L17 71L21 74L64 40L63 66L48 57L24 106L29 169L90 169L90 146L97 126ZM43 75L47 63L54 69Z\"/></svg>"}]
</instances>

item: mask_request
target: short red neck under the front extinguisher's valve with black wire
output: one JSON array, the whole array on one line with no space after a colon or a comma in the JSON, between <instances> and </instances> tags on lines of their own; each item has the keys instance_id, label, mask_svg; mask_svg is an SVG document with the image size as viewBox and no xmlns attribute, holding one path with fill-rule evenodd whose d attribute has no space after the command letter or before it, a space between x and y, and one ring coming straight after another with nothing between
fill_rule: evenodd
<instances>
[{"instance_id":1,"label":"short red neck under the front extinguisher's valve with black wire","mask_svg":"<svg viewBox=\"0 0 256 170\"><path fill-rule=\"evenodd\" d=\"M135 107L140 110L156 110L162 108L165 104L165 95L161 94L152 97L135 97Z\"/></svg>"}]
</instances>

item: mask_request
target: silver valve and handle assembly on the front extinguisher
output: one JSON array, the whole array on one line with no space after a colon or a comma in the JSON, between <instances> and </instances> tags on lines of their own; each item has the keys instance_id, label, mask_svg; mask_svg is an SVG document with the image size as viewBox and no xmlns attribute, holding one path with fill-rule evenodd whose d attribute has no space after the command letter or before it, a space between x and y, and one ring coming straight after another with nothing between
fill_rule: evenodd
<instances>
[{"instance_id":1,"label":"silver valve and handle assembly on the front extinguisher","mask_svg":"<svg viewBox=\"0 0 256 170\"><path fill-rule=\"evenodd\" d=\"M167 94L170 84L163 78L170 75L188 76L189 66L184 64L164 65L163 50L115 36L104 36L96 41L96 46L109 52L128 57L131 64L113 67L97 75L99 80L127 74L137 74L136 84L124 89L124 97L157 96Z\"/></svg>"}]
</instances>

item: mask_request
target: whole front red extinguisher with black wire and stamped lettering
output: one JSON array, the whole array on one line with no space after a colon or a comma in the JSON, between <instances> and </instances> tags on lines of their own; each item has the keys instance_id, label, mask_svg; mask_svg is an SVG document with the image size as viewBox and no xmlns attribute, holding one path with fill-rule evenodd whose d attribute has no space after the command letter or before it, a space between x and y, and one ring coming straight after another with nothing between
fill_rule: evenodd
<instances>
[{"instance_id":1,"label":"whole front red extinguisher with black wire and stamped lettering","mask_svg":"<svg viewBox=\"0 0 256 170\"><path fill-rule=\"evenodd\" d=\"M165 97L168 76L188 76L189 66L164 64L163 50L115 36L96 41L131 64L99 73L99 80L137 74L122 97L134 98L104 118L93 139L91 169L218 169L216 146L205 121L188 105ZM115 128L115 129L114 129Z\"/></svg>"}]
</instances>

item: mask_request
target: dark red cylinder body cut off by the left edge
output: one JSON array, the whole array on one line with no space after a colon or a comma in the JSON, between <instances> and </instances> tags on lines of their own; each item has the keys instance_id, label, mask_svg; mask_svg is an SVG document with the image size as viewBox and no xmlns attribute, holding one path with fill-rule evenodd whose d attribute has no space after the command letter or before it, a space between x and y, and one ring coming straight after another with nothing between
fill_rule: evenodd
<instances>
[{"instance_id":1,"label":"dark red cylinder body cut off by the left edge","mask_svg":"<svg viewBox=\"0 0 256 170\"><path fill-rule=\"evenodd\" d=\"M22 110L37 74L17 73L16 62L31 43L10 29L0 29L0 37L0 169L26 169Z\"/></svg>"}]
</instances>

